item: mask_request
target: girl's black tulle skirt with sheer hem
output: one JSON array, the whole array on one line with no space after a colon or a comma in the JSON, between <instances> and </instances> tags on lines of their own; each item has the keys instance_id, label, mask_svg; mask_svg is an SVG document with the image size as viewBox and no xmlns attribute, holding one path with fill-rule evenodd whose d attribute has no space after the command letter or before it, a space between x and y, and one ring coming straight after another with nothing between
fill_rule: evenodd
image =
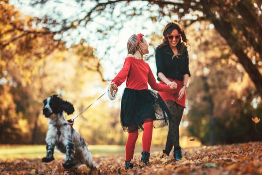
<instances>
[{"instance_id":1,"label":"girl's black tulle skirt with sheer hem","mask_svg":"<svg viewBox=\"0 0 262 175\"><path fill-rule=\"evenodd\" d=\"M153 127L168 125L171 114L154 90L125 88L121 101L121 125L124 131L142 131L143 123L153 120Z\"/></svg>"}]
</instances>

